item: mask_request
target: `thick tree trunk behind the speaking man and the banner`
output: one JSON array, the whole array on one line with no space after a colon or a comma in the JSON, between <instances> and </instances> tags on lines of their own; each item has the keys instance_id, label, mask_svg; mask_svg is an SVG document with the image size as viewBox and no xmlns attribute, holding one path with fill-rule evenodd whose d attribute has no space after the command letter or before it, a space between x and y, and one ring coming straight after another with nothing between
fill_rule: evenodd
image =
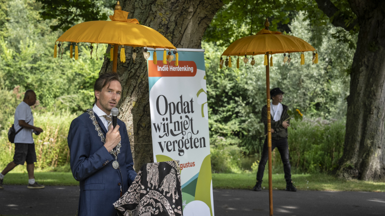
<instances>
[{"instance_id":1,"label":"thick tree trunk behind the speaking man and the banner","mask_svg":"<svg viewBox=\"0 0 385 216\"><path fill-rule=\"evenodd\" d=\"M201 48L203 34L223 3L222 0L121 0L120 5L130 12L128 18L136 18L140 24L157 30L177 48ZM119 118L126 123L134 168L138 171L143 163L153 161L153 154L147 64L143 48L136 51L133 63L132 47L126 47L126 62L118 60L117 73L123 88ZM118 59L119 56L120 50ZM111 71L112 61L106 58L100 74Z\"/></svg>"}]
</instances>

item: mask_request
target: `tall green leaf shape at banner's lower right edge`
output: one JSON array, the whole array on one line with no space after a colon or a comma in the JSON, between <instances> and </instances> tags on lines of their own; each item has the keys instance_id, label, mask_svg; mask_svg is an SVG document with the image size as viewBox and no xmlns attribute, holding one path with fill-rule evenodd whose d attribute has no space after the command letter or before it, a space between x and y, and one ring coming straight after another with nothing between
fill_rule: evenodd
<instances>
[{"instance_id":1,"label":"tall green leaf shape at banner's lower right edge","mask_svg":"<svg viewBox=\"0 0 385 216\"><path fill-rule=\"evenodd\" d=\"M210 213L213 215L211 206L211 160L210 154L205 157L199 171L197 189L195 190L195 200L201 200L210 207Z\"/></svg>"}]
</instances>

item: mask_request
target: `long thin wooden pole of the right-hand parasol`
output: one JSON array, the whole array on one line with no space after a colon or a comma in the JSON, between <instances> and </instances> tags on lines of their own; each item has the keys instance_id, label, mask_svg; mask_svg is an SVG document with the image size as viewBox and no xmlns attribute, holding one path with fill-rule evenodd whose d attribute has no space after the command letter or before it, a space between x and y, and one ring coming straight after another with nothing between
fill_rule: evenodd
<instances>
[{"instance_id":1,"label":"long thin wooden pole of the right-hand parasol","mask_svg":"<svg viewBox=\"0 0 385 216\"><path fill-rule=\"evenodd\" d=\"M267 105L267 146L268 146L268 156L269 156L269 207L270 207L270 216L273 216L273 182L271 176L271 116L270 116L270 75L269 75L269 52L266 52L267 55L267 65L266 65L266 105Z\"/></svg>"}]
</instances>

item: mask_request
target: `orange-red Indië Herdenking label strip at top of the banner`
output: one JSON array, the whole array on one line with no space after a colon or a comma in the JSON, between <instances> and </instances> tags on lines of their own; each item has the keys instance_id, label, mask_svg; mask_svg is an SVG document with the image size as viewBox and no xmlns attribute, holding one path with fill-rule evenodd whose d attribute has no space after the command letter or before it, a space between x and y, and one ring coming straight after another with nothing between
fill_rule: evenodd
<instances>
[{"instance_id":1,"label":"orange-red Indi\u00eb Herdenking label strip at top of the banner","mask_svg":"<svg viewBox=\"0 0 385 216\"><path fill-rule=\"evenodd\" d=\"M197 74L197 64L194 61L179 61L178 66L174 65L175 61L170 64L163 64L161 60L154 64L152 60L148 60L148 76L195 76Z\"/></svg>"}]
</instances>

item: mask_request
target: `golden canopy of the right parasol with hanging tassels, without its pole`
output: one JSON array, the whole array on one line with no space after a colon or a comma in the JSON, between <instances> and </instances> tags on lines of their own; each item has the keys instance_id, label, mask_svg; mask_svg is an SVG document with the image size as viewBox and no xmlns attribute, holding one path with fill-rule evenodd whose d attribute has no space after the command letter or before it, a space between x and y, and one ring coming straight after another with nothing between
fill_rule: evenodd
<instances>
[{"instance_id":1,"label":"golden canopy of the right parasol with hanging tassels, without its pole","mask_svg":"<svg viewBox=\"0 0 385 216\"><path fill-rule=\"evenodd\" d=\"M313 51L313 63L318 63L318 53L316 49L307 43L305 40L298 38L296 36L282 34L279 31L269 30L269 21L266 18L265 28L260 30L255 35L250 35L242 37L234 41L230 46L222 53L222 55L229 56L230 62L226 62L231 67L231 55L245 55L244 62L248 62L246 55L258 55L265 54L265 65L267 53L277 54L277 53L291 53L291 52L302 52L301 54L301 64L304 64L304 51ZM315 52L315 53L314 53ZM286 60L285 60L286 59ZM221 57L220 67L223 65L223 58ZM239 61L239 60L238 60ZM284 57L284 62L289 61L289 57ZM255 61L251 62L252 65L255 64ZM271 62L272 64L272 62ZM271 65L272 66L272 65ZM237 68L239 68L239 62L237 62Z\"/></svg>"}]
</instances>

